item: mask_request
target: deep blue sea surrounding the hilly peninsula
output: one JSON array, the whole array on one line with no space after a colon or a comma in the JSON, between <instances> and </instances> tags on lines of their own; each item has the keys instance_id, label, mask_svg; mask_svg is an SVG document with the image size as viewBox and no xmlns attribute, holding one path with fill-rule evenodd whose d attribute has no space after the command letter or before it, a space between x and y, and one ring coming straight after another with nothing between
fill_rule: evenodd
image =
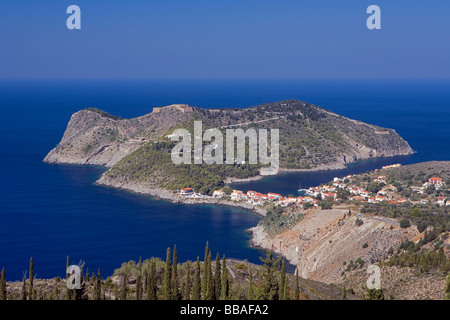
<instances>
[{"instance_id":1,"label":"deep blue sea surrounding the hilly peninsula","mask_svg":"<svg viewBox=\"0 0 450 320\"><path fill-rule=\"evenodd\" d=\"M42 162L72 113L97 107L122 117L155 106L247 107L283 99L314 103L344 116L394 128L416 154L362 161L345 170L289 173L239 184L282 194L385 164L450 160L450 81L381 80L0 80L0 268L19 280L30 257L38 278L63 276L66 257L105 276L128 260L215 256L258 263L245 231L259 217L238 208L177 205L93 185L95 166Z\"/></svg>"}]
</instances>

